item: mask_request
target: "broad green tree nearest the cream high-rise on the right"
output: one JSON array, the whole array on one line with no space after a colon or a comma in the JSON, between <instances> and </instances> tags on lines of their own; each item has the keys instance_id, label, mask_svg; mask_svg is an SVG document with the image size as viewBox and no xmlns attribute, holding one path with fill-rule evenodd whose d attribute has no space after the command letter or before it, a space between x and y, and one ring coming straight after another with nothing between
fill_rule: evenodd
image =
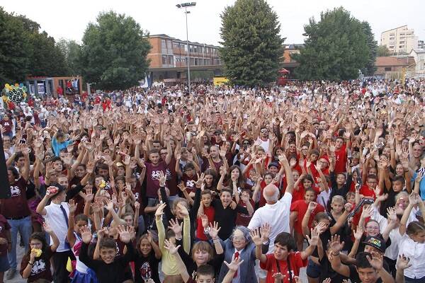
<instances>
[{"instance_id":1,"label":"broad green tree nearest the cream high-rise on the right","mask_svg":"<svg viewBox=\"0 0 425 283\"><path fill-rule=\"evenodd\" d=\"M344 8L322 12L319 22L310 18L304 30L305 48L293 54L300 63L295 69L299 79L355 79L368 64L370 50L363 25Z\"/></svg>"}]
</instances>

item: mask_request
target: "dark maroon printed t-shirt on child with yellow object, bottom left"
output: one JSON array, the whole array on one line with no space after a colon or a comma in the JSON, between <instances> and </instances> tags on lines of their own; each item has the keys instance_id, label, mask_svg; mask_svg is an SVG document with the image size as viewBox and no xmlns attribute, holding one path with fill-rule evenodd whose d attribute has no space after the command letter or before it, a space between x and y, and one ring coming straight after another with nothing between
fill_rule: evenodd
<instances>
[{"instance_id":1,"label":"dark maroon printed t-shirt on child with yellow object, bottom left","mask_svg":"<svg viewBox=\"0 0 425 283\"><path fill-rule=\"evenodd\" d=\"M50 258L52 258L52 250L50 247L46 249L45 254L41 255L40 258L35 258L33 267L31 268L30 277L28 277L27 282L35 282L38 279L45 279L47 282L52 282L52 272L50 271ZM26 269L28 265L29 256L24 256L21 261L21 275L23 270Z\"/></svg>"}]
</instances>

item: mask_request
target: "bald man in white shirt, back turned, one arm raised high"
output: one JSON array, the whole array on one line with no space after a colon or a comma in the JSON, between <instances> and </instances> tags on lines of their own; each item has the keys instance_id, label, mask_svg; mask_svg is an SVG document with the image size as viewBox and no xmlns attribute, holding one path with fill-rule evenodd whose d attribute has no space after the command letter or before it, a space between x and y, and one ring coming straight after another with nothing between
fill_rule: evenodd
<instances>
[{"instance_id":1,"label":"bald man in white shirt, back turned, one arm raised high","mask_svg":"<svg viewBox=\"0 0 425 283\"><path fill-rule=\"evenodd\" d=\"M274 240L278 233L289 231L289 216L290 203L292 202L292 192L294 188L294 179L288 159L285 156L279 156L280 164L285 168L285 176L288 183L285 194L279 200L279 188L273 183L270 183L263 190L263 197L266 200L266 205L260 207L254 212L249 229L256 229L262 224L268 223L271 225L270 246L268 253L273 253Z\"/></svg>"}]
</instances>

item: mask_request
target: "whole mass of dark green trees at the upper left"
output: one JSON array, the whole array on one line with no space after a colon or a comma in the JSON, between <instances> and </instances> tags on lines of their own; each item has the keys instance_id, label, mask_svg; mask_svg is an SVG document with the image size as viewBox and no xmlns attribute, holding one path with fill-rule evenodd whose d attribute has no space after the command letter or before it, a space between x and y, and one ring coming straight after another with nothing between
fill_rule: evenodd
<instances>
[{"instance_id":1,"label":"whole mass of dark green trees at the upper left","mask_svg":"<svg viewBox=\"0 0 425 283\"><path fill-rule=\"evenodd\" d=\"M19 83L26 75L67 75L64 55L55 39L25 16L7 13L0 7L0 88Z\"/></svg>"}]
</instances>

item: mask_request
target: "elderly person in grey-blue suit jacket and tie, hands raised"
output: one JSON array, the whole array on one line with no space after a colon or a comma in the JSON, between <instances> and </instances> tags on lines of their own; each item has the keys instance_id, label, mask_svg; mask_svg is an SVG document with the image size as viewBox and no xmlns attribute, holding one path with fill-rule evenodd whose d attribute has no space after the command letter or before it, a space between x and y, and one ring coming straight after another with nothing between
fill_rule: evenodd
<instances>
[{"instance_id":1,"label":"elderly person in grey-blue suit jacket and tie, hands raised","mask_svg":"<svg viewBox=\"0 0 425 283\"><path fill-rule=\"evenodd\" d=\"M268 244L268 235L270 234L271 227L268 224L263 224L261 226L260 232L261 237L263 238L263 253L267 253ZM239 260L244 260L242 265L239 266L239 270L234 274L232 283L244 283L244 282L257 282L255 274L255 244L251 241L251 236L249 234L249 229L245 226L236 226L233 230L232 236L226 241L220 239L222 246L222 253L225 253L225 261L231 262L232 257L239 258ZM217 250L217 253L220 253ZM222 282L223 278L226 276L229 268L225 263L222 264L220 269L220 275L218 277L218 282Z\"/></svg>"}]
</instances>

